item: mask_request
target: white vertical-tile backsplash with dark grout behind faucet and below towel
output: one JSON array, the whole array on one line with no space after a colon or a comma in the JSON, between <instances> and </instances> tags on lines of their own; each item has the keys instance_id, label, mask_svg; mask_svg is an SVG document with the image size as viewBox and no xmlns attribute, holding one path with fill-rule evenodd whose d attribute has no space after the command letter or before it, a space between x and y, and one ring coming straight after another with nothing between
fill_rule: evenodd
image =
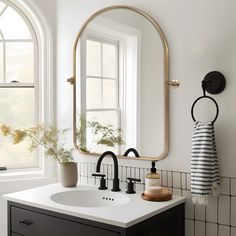
<instances>
[{"instance_id":1,"label":"white vertical-tile backsplash with dark grout behind faucet and below towel","mask_svg":"<svg viewBox=\"0 0 236 236\"><path fill-rule=\"evenodd\" d=\"M79 182L99 186L99 178L91 177L96 163L79 163ZM140 178L141 183L135 189L143 192L148 168L119 166L120 188L126 191L127 177ZM102 165L101 173L109 179L108 188L112 188L113 165ZM187 197L185 204L186 236L236 236L236 178L221 177L219 197L209 197L208 205L193 205L191 199L191 178L189 173L158 170L162 186L171 188L174 195Z\"/></svg>"}]
</instances>

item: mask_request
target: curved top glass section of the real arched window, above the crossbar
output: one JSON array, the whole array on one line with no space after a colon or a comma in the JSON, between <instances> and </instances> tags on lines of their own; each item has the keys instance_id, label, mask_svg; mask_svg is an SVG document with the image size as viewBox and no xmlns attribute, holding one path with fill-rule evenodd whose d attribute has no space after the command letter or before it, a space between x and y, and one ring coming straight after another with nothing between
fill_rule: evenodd
<instances>
[{"instance_id":1,"label":"curved top glass section of the real arched window, above the crossbar","mask_svg":"<svg viewBox=\"0 0 236 236\"><path fill-rule=\"evenodd\" d=\"M22 17L8 7L0 17L0 30L5 39L31 39L31 33Z\"/></svg>"}]
</instances>

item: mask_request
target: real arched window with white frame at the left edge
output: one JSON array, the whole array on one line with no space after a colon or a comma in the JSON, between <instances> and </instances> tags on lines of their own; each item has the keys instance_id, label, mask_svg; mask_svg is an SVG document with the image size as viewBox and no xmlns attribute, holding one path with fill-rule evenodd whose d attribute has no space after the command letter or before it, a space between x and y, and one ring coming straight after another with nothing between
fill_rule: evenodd
<instances>
[{"instance_id":1,"label":"real arched window with white frame at the left edge","mask_svg":"<svg viewBox=\"0 0 236 236\"><path fill-rule=\"evenodd\" d=\"M39 19L21 1L0 0L0 123L26 128L46 121L45 44ZM0 166L41 168L29 144L0 140Z\"/></svg>"}]
</instances>

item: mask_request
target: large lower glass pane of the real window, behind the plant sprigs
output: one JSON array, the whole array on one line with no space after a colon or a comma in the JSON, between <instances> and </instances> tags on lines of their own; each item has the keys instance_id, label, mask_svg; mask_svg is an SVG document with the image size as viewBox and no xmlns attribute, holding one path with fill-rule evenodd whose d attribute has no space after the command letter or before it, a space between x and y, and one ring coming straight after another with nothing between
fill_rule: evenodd
<instances>
[{"instance_id":1,"label":"large lower glass pane of the real window, behind the plant sprigs","mask_svg":"<svg viewBox=\"0 0 236 236\"><path fill-rule=\"evenodd\" d=\"M35 123L34 89L0 88L0 123L13 128L25 128ZM28 151L29 144L13 145L6 138L0 139L0 166L7 168L37 167L38 159Z\"/></svg>"}]
</instances>

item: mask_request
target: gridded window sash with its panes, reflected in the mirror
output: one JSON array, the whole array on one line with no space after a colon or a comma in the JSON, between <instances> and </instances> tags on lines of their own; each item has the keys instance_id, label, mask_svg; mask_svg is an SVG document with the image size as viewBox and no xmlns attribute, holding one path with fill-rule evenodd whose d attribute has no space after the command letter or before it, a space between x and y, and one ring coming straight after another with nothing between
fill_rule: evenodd
<instances>
[{"instance_id":1,"label":"gridded window sash with its panes, reflected in the mirror","mask_svg":"<svg viewBox=\"0 0 236 236\"><path fill-rule=\"evenodd\" d=\"M120 128L119 107L119 43L110 39L87 37L86 39L86 96L82 101L83 115L87 121ZM86 130L86 147L99 153L102 149L94 145L94 134ZM101 150L100 150L101 149ZM110 148L118 153L119 147Z\"/></svg>"}]
</instances>

